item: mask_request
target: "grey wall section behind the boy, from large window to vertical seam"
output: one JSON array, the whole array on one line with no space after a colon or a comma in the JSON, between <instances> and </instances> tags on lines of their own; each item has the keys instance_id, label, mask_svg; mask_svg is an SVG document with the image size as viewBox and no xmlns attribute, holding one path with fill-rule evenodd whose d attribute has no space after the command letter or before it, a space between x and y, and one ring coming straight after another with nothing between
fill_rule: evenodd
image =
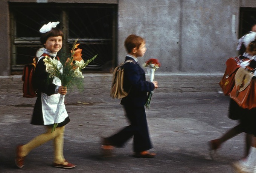
<instances>
[{"instance_id":1,"label":"grey wall section behind the boy, from large window to vertical seam","mask_svg":"<svg viewBox=\"0 0 256 173\"><path fill-rule=\"evenodd\" d=\"M126 52L123 46L130 34L146 40L147 51L141 62L159 59L159 71L179 71L180 0L119 0L119 61Z\"/></svg>"}]
</instances>

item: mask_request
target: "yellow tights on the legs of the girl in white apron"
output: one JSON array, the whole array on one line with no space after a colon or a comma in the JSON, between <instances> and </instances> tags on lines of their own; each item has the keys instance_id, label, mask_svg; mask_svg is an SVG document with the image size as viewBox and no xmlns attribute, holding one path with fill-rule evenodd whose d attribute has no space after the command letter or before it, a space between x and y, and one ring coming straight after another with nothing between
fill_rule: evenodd
<instances>
[{"instance_id":1,"label":"yellow tights on the legs of the girl in white apron","mask_svg":"<svg viewBox=\"0 0 256 173\"><path fill-rule=\"evenodd\" d=\"M53 132L51 126L46 126L46 132L44 134L38 135L21 147L21 156L26 156L34 148L53 140L54 163L63 164L65 161L63 155L64 131L65 126L57 127Z\"/></svg>"}]
</instances>

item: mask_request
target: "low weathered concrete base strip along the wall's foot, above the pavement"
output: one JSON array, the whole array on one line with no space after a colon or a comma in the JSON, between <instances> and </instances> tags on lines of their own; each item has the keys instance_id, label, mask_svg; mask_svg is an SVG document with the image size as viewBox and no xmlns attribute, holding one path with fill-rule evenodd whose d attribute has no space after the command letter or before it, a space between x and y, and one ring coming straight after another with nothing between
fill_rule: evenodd
<instances>
[{"instance_id":1,"label":"low weathered concrete base strip along the wall's foot, above the pavement","mask_svg":"<svg viewBox=\"0 0 256 173\"><path fill-rule=\"evenodd\" d=\"M112 83L112 74L84 74L84 93L86 95L109 95ZM159 88L155 93L165 92L218 92L221 91L218 83L221 75L204 74L156 74ZM149 76L146 75L149 80ZM12 93L21 96L23 81L21 75L0 76L0 95ZM79 92L69 89L69 92Z\"/></svg>"}]
</instances>

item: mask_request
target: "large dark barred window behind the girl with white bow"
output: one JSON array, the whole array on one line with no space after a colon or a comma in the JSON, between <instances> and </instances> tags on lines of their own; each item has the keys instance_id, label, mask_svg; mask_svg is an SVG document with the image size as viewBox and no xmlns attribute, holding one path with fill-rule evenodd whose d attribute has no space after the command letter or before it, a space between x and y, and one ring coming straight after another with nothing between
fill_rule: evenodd
<instances>
[{"instance_id":1,"label":"large dark barred window behind the girl with white bow","mask_svg":"<svg viewBox=\"0 0 256 173\"><path fill-rule=\"evenodd\" d=\"M9 3L12 74L21 74L31 63L40 43L40 28L60 21L64 32L60 58L70 56L78 39L84 60L98 54L83 72L110 72L116 60L116 4L88 3Z\"/></svg>"}]
</instances>

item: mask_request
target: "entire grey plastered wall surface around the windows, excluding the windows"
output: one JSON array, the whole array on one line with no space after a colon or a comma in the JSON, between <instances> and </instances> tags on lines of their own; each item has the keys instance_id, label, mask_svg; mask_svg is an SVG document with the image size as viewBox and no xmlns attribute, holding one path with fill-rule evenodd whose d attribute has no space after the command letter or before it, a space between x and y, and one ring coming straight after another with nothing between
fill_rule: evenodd
<instances>
[{"instance_id":1,"label":"entire grey plastered wall surface around the windows, excluding the windows","mask_svg":"<svg viewBox=\"0 0 256 173\"><path fill-rule=\"evenodd\" d=\"M0 75L10 75L8 2L0 1ZM223 73L225 61L237 56L239 8L256 7L256 0L65 0L70 3L118 3L118 63L126 55L123 42L130 34L146 39L140 59L157 58L163 73Z\"/></svg>"}]
</instances>

